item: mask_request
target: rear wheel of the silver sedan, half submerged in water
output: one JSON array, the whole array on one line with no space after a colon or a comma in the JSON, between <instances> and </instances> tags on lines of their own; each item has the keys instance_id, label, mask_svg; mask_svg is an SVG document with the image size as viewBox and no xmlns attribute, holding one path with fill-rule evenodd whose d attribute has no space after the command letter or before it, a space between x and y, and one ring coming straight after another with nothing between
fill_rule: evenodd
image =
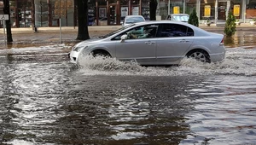
<instances>
[{"instance_id":1,"label":"rear wheel of the silver sedan, half submerged in water","mask_svg":"<svg viewBox=\"0 0 256 145\"><path fill-rule=\"evenodd\" d=\"M188 58L194 58L196 61L208 62L210 63L210 55L202 49L195 49L190 51L187 55Z\"/></svg>"}]
</instances>

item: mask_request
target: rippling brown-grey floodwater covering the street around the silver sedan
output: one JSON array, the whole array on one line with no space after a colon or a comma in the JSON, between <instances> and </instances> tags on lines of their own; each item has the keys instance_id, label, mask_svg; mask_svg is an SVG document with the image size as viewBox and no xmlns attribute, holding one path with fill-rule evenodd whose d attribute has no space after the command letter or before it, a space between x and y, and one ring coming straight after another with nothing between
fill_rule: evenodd
<instances>
[{"instance_id":1,"label":"rippling brown-grey floodwater covering the street around the silver sedan","mask_svg":"<svg viewBox=\"0 0 256 145\"><path fill-rule=\"evenodd\" d=\"M255 46L179 67L90 57L76 67L63 45L40 48L51 55L36 49L0 57L0 144L256 142Z\"/></svg>"}]
</instances>

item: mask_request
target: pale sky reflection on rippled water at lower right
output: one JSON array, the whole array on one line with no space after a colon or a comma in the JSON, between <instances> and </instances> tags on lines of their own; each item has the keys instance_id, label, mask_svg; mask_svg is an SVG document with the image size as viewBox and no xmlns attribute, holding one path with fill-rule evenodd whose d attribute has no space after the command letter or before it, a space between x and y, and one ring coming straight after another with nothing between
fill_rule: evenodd
<instances>
[{"instance_id":1,"label":"pale sky reflection on rippled water at lower right","mask_svg":"<svg viewBox=\"0 0 256 145\"><path fill-rule=\"evenodd\" d=\"M194 133L183 144L254 144L256 79L249 79L218 76L205 79L198 89L187 90L203 97L193 101L195 109L186 115Z\"/></svg>"}]
</instances>

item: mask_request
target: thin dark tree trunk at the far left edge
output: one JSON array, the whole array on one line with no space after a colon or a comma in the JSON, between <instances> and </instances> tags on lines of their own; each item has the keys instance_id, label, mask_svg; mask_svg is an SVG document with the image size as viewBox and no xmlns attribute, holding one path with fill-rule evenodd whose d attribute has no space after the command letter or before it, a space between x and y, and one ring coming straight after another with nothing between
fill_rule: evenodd
<instances>
[{"instance_id":1,"label":"thin dark tree trunk at the far left edge","mask_svg":"<svg viewBox=\"0 0 256 145\"><path fill-rule=\"evenodd\" d=\"M9 15L9 0L3 0L3 4L4 4L3 13ZM6 20L6 32L7 32L7 42L8 43L13 42L10 15L9 15L9 20Z\"/></svg>"}]
</instances>

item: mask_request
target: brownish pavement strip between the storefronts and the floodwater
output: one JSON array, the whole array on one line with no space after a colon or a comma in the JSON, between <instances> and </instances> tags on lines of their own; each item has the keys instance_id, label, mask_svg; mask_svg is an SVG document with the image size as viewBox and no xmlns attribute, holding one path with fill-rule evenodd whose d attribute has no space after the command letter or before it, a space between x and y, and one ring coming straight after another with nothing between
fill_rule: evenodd
<instances>
[{"instance_id":1,"label":"brownish pavement strip between the storefronts and the floodwater","mask_svg":"<svg viewBox=\"0 0 256 145\"><path fill-rule=\"evenodd\" d=\"M114 30L119 29L121 26L88 26L90 38L99 37ZM202 29L208 32L217 32L224 34L223 26L205 26L200 25ZM61 27L38 27L38 32L34 32L32 27L26 28L12 28L13 43L11 47L27 47L27 46L40 46L49 44L75 44L79 41L76 40L78 36L78 26L63 26ZM236 32L256 32L256 26L251 26L248 23L241 23L241 26L236 26ZM5 48L3 41L3 28L0 28L0 49Z\"/></svg>"}]
</instances>

